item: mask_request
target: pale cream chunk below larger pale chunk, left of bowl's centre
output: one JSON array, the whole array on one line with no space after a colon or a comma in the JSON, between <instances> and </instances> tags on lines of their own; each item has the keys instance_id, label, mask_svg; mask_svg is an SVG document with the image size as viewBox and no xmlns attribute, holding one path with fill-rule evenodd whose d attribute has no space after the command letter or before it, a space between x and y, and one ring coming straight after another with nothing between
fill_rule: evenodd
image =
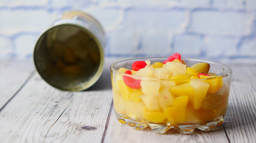
<instances>
[{"instance_id":1,"label":"pale cream chunk below larger pale chunk, left of bowl's centre","mask_svg":"<svg viewBox=\"0 0 256 143\"><path fill-rule=\"evenodd\" d=\"M160 110L160 105L157 102L156 97L141 95L140 98L142 99L143 103L145 103L149 111Z\"/></svg>"}]
</instances>

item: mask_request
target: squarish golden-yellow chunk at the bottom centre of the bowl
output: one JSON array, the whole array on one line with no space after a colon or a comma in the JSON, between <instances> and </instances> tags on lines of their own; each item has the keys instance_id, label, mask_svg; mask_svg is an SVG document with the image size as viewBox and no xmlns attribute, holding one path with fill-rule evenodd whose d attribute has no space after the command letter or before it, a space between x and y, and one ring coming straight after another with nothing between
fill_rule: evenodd
<instances>
[{"instance_id":1,"label":"squarish golden-yellow chunk at the bottom centre of the bowl","mask_svg":"<svg viewBox=\"0 0 256 143\"><path fill-rule=\"evenodd\" d=\"M163 113L167 116L169 121L173 121L176 124L186 120L186 107L166 107L164 108Z\"/></svg>"}]
</instances>

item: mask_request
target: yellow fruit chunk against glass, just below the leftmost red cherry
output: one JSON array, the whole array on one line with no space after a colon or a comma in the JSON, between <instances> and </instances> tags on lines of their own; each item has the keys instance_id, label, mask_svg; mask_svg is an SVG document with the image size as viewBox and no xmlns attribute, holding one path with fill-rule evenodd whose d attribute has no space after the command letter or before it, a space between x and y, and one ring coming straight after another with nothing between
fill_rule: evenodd
<instances>
[{"instance_id":1,"label":"yellow fruit chunk against glass, just below the leftmost red cherry","mask_svg":"<svg viewBox=\"0 0 256 143\"><path fill-rule=\"evenodd\" d=\"M117 81L117 86L118 86L118 88L121 92L123 100L128 101L129 100L129 95L131 95L133 93L134 89L126 86L123 80L118 80Z\"/></svg>"}]
</instances>

